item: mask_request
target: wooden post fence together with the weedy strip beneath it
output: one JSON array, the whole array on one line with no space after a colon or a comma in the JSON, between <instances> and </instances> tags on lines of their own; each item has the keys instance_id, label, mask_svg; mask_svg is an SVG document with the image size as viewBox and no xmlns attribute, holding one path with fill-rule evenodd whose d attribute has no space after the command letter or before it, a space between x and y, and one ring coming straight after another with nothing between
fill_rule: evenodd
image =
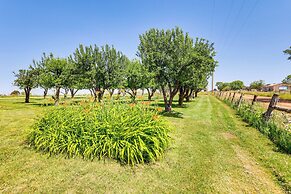
<instances>
[{"instance_id":1,"label":"wooden post fence together with the weedy strip beneath it","mask_svg":"<svg viewBox=\"0 0 291 194\"><path fill-rule=\"evenodd\" d=\"M272 96L267 109L257 103L257 95L252 100L239 92L216 92L215 96L234 108L245 122L268 136L280 150L291 154L291 109L277 105L278 94ZM278 112L274 114L275 111Z\"/></svg>"}]
</instances>

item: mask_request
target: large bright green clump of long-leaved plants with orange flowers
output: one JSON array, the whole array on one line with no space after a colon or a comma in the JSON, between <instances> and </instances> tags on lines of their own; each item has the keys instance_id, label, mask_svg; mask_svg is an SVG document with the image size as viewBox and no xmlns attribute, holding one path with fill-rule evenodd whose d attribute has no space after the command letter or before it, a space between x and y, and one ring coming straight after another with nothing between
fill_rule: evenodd
<instances>
[{"instance_id":1,"label":"large bright green clump of long-leaved plants with orange flowers","mask_svg":"<svg viewBox=\"0 0 291 194\"><path fill-rule=\"evenodd\" d=\"M113 158L139 164L157 160L169 143L168 126L149 106L85 105L53 108L33 126L29 144L50 154Z\"/></svg>"}]
</instances>

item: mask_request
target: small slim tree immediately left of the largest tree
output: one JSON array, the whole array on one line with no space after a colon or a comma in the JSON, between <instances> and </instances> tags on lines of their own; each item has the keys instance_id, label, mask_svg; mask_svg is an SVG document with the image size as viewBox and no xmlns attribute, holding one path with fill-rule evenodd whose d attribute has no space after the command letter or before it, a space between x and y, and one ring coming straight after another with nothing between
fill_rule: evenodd
<instances>
[{"instance_id":1,"label":"small slim tree immediately left of the largest tree","mask_svg":"<svg viewBox=\"0 0 291 194\"><path fill-rule=\"evenodd\" d=\"M127 89L126 93L130 95L133 102L135 101L137 90L145 87L145 71L146 69L137 59L127 63L125 88Z\"/></svg>"}]
</instances>

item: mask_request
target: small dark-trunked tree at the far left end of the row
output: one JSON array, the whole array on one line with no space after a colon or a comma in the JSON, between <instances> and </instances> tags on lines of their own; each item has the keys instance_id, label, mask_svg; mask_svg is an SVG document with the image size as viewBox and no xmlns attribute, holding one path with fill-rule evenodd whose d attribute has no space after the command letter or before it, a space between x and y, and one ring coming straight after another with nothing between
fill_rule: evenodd
<instances>
[{"instance_id":1,"label":"small dark-trunked tree at the far left end of the row","mask_svg":"<svg viewBox=\"0 0 291 194\"><path fill-rule=\"evenodd\" d=\"M20 69L18 73L13 73L16 77L14 85L20 87L20 89L24 89L25 103L29 103L31 89L37 86L37 76L35 75L35 71L31 69Z\"/></svg>"}]
</instances>

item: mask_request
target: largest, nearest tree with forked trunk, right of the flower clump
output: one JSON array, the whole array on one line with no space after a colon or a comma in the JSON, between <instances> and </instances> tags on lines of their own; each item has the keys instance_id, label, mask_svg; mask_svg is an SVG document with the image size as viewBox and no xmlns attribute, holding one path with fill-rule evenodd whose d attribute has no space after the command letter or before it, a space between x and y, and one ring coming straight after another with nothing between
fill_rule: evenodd
<instances>
[{"instance_id":1,"label":"largest, nearest tree with forked trunk, right of the flower clump","mask_svg":"<svg viewBox=\"0 0 291 194\"><path fill-rule=\"evenodd\" d=\"M139 36L137 55L161 88L165 110L171 111L174 96L191 61L193 40L180 28L150 29ZM168 91L168 92L167 92Z\"/></svg>"}]
</instances>

